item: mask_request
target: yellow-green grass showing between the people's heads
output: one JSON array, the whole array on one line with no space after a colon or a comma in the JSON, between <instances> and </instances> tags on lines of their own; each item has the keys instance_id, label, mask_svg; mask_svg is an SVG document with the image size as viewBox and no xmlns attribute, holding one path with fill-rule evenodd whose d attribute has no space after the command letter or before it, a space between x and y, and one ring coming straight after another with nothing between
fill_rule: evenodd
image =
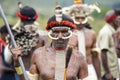
<instances>
[{"instance_id":1,"label":"yellow-green grass showing between the people's heads","mask_svg":"<svg viewBox=\"0 0 120 80\"><path fill-rule=\"evenodd\" d=\"M47 20L49 19L48 17L40 16L37 22L39 23L39 28L40 29L45 29ZM9 24L15 24L17 22L18 18L9 18L8 22ZM94 18L94 21L89 20L89 23L91 24L92 28L95 30L96 34L98 34L99 30L103 27L105 24L104 20L101 18ZM0 18L0 26L4 25L3 20Z\"/></svg>"}]
</instances>

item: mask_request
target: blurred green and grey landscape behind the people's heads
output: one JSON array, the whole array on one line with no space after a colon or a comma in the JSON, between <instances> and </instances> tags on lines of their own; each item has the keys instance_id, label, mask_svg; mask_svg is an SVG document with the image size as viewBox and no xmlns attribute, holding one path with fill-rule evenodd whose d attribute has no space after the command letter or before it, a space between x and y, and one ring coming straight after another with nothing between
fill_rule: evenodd
<instances>
[{"instance_id":1,"label":"blurred green and grey landscape behind the people's heads","mask_svg":"<svg viewBox=\"0 0 120 80\"><path fill-rule=\"evenodd\" d=\"M29 5L36 9L39 14L39 27L45 29L47 20L54 14L54 8L56 0L20 0L23 3L23 6ZM109 9L120 8L120 0L84 0L86 4L94 4L95 2L99 3L101 8L101 13L96 11L92 14L94 20L89 20L91 26L98 34L99 30L104 25L104 14ZM59 3L62 7L71 6L74 4L74 0L59 0ZM4 10L4 13L7 17L9 24L15 24L18 20L16 12L18 9L17 0L0 0L0 4ZM3 20L0 17L0 26L4 24Z\"/></svg>"}]
</instances>

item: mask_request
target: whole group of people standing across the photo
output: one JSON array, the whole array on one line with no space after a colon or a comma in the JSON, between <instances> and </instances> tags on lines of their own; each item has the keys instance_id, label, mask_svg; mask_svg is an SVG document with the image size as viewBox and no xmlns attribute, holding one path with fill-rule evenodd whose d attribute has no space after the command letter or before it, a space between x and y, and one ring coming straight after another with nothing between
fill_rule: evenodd
<instances>
[{"instance_id":1,"label":"whole group of people standing across the photo","mask_svg":"<svg viewBox=\"0 0 120 80\"><path fill-rule=\"evenodd\" d=\"M62 11L57 4L42 31L36 10L22 7L19 24L9 25L17 47L0 28L0 80L25 80L19 56L29 80L120 80L120 8L106 12L98 36L87 20L93 7L77 2Z\"/></svg>"}]
</instances>

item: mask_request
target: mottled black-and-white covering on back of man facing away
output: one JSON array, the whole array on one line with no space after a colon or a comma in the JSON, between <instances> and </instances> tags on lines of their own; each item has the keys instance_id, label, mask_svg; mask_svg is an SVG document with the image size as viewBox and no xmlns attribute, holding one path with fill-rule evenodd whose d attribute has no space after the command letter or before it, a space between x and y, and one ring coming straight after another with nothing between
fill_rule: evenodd
<instances>
[{"instance_id":1,"label":"mottled black-and-white covering on back of man facing away","mask_svg":"<svg viewBox=\"0 0 120 80\"><path fill-rule=\"evenodd\" d=\"M14 38L16 41L17 46L22 47L22 55L28 55L28 53L31 51L32 48L36 47L38 44L38 37L39 35L35 31L29 31L27 28L35 28L34 25L26 25L17 27L15 29ZM11 40L9 42L9 48L13 48L13 45L11 43Z\"/></svg>"}]
</instances>

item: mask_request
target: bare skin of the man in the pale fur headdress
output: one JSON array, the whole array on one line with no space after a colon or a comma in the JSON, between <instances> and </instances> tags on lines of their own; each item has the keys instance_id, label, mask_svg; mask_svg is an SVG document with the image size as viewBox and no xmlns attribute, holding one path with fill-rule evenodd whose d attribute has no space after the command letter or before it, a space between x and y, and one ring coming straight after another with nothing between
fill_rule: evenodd
<instances>
[{"instance_id":1,"label":"bare skin of the man in the pale fur headdress","mask_svg":"<svg viewBox=\"0 0 120 80\"><path fill-rule=\"evenodd\" d=\"M79 23L85 20L84 17L76 17L75 20ZM86 46L86 60L88 64L93 64L95 71L97 73L98 80L101 80L101 70L100 70L100 61L98 58L98 52L92 51L93 48L96 48L96 34L93 30L85 28L84 24L77 24L78 30L83 30L85 35L85 46ZM70 46L78 49L78 37L73 35L68 43Z\"/></svg>"}]
</instances>

